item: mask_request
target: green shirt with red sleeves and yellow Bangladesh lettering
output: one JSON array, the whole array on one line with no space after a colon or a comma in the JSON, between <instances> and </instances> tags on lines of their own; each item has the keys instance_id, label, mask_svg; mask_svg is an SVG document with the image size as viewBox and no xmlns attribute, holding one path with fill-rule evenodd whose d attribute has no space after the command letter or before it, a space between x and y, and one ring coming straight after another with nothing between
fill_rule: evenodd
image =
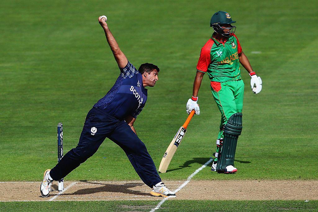
<instances>
[{"instance_id":1,"label":"green shirt with red sleeves and yellow Bangladesh lettering","mask_svg":"<svg viewBox=\"0 0 318 212\"><path fill-rule=\"evenodd\" d=\"M208 72L210 80L214 82L239 80L241 52L242 47L236 35L222 43L211 36L201 49L197 71Z\"/></svg>"}]
</instances>

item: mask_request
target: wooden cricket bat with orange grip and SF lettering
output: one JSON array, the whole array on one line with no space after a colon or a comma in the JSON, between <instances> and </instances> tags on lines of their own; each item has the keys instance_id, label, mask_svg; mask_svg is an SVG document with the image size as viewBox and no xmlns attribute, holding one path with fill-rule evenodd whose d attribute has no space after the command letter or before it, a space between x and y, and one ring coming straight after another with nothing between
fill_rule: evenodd
<instances>
[{"instance_id":1,"label":"wooden cricket bat with orange grip and SF lettering","mask_svg":"<svg viewBox=\"0 0 318 212\"><path fill-rule=\"evenodd\" d=\"M190 120L192 119L194 113L195 113L194 110L191 111L187 120L185 120L184 124L180 127L180 129L176 133L175 137L172 139L168 149L164 153L162 160L161 160L161 163L160 163L160 166L159 166L159 169L158 169L158 171L160 173L166 173L173 155L175 154L178 146L181 143L181 140L183 139L185 133L187 132L188 124L190 123Z\"/></svg>"}]
</instances>

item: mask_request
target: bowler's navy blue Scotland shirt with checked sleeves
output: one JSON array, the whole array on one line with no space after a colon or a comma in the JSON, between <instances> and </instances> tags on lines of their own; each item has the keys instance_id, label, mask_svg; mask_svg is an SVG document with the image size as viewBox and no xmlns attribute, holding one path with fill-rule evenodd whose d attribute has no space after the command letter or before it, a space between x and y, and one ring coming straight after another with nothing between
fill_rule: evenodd
<instances>
[{"instance_id":1,"label":"bowler's navy blue Scotland shirt with checked sleeves","mask_svg":"<svg viewBox=\"0 0 318 212\"><path fill-rule=\"evenodd\" d=\"M147 100L142 74L129 61L125 68L119 69L121 73L113 87L93 107L118 120L124 120L129 115L136 118Z\"/></svg>"}]
</instances>

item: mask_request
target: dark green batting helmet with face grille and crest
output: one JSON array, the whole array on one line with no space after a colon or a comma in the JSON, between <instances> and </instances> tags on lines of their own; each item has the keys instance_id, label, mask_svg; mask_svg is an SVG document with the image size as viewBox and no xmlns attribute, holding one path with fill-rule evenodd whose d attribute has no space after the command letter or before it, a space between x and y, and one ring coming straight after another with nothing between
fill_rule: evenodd
<instances>
[{"instance_id":1,"label":"dark green batting helmet with face grille and crest","mask_svg":"<svg viewBox=\"0 0 318 212\"><path fill-rule=\"evenodd\" d=\"M236 26L230 26L230 27L226 27L226 28L222 28L221 25L223 24L233 24L236 21L233 21L230 14L228 12L225 11L218 11L216 13L213 14L213 16L211 17L211 21L210 21L210 26L213 28L213 30L218 33L221 34L227 38L230 38L233 36ZM229 29L229 31L224 31Z\"/></svg>"}]
</instances>

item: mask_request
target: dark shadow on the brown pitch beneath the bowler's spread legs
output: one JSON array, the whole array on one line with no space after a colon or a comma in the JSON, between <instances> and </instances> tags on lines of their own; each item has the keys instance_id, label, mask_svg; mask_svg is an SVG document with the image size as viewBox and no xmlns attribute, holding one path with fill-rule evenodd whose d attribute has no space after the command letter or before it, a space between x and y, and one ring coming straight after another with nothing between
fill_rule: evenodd
<instances>
[{"instance_id":1,"label":"dark shadow on the brown pitch beneath the bowler's spread legs","mask_svg":"<svg viewBox=\"0 0 318 212\"><path fill-rule=\"evenodd\" d=\"M125 183L125 184L107 184L107 183L100 183L100 182L90 182L90 181L81 181L90 183L93 185L102 185L100 187L93 187L93 188L83 188L79 189L72 194L62 194L62 195L85 195L85 194L94 194L99 192L111 192L111 193L124 193L124 194L133 194L133 195L142 195L142 196L149 196L149 193L144 193L140 191L134 191L129 188L134 188L136 186L142 186L143 183Z\"/></svg>"}]
</instances>

